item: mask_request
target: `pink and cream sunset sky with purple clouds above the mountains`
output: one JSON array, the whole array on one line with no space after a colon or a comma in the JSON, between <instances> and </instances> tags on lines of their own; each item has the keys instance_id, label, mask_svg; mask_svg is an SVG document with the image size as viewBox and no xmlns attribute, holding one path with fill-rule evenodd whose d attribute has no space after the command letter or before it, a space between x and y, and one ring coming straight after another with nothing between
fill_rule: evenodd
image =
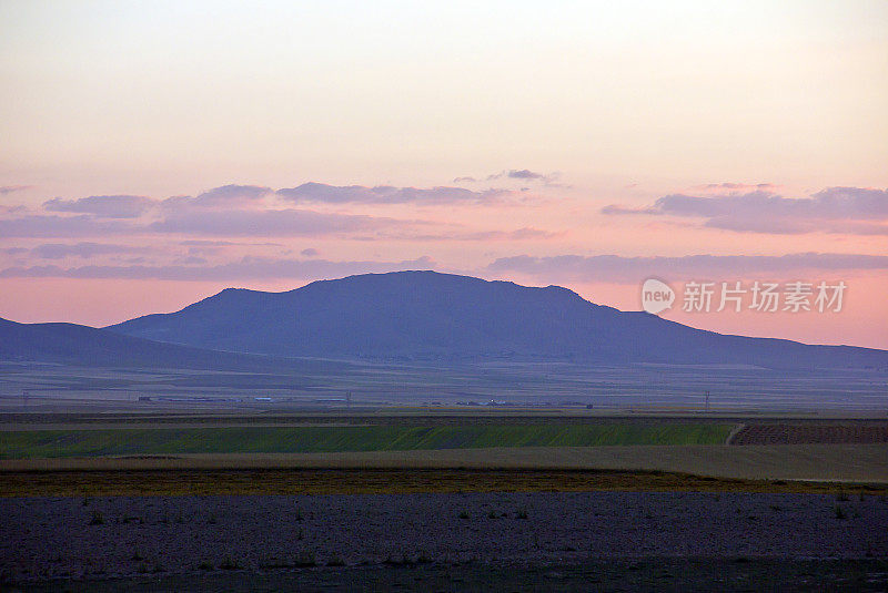
<instances>
[{"instance_id":1,"label":"pink and cream sunset sky with purple clouds above the mountains","mask_svg":"<svg viewBox=\"0 0 888 593\"><path fill-rule=\"evenodd\" d=\"M888 348L888 2L0 3L0 317L436 269ZM715 307L714 307L715 308Z\"/></svg>"}]
</instances>

